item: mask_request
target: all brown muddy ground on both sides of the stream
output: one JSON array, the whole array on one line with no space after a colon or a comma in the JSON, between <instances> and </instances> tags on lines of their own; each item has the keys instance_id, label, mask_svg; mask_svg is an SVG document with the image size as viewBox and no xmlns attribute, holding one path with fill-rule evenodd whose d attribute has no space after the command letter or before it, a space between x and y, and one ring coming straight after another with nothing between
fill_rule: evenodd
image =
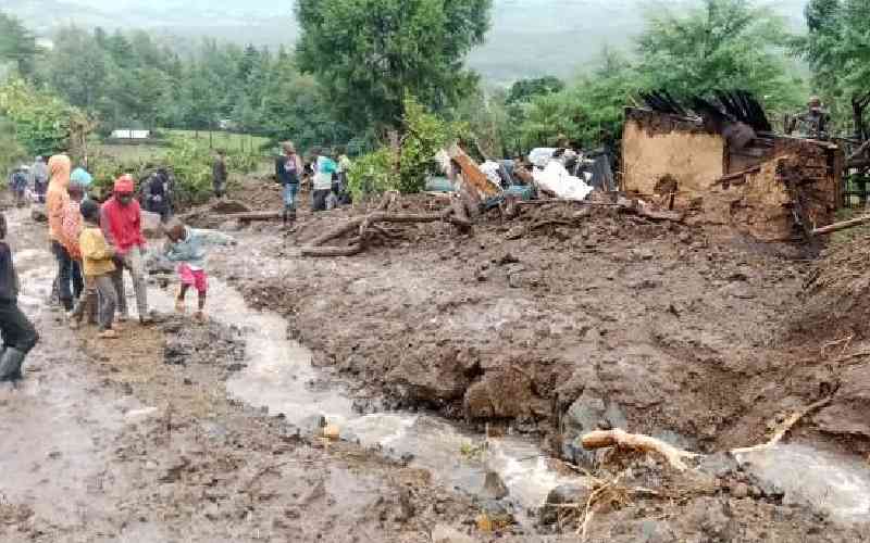
<instances>
[{"instance_id":1,"label":"all brown muddy ground on both sides of the stream","mask_svg":"<svg viewBox=\"0 0 870 543\"><path fill-rule=\"evenodd\" d=\"M272 186L235 195L257 209L278 201ZM591 508L589 541L870 541L866 527L784 498L713 454L763 442L784 415L826 395L831 403L787 441L867 453L867 380L844 379L832 364L859 352L863 328L808 326L828 314L832 289L848 295L824 281L841 253L810 260L682 225L555 206L489 218L468 237L446 225L408 226L359 256L299 256L302 243L353 213L302 211L290 231L224 224L239 245L215 252L211 270L249 304L285 315L360 409L430 409L538 439L594 473L593 488L610 483ZM41 251L37 228L13 228L17 251ZM30 258L20 263L35 269L25 279L45 283L47 255ZM433 473L297 435L279 417L228 400L225 380L244 364L235 330L169 317L129 326L128 341L107 346L92 331L73 334L38 303L28 313L44 341L24 387L0 392L0 458L15 473L0 479L0 535L9 541L393 542L450 530L445 541L579 539L588 478L554 495L568 505L538 512L538 526L487 533L475 519L492 504L443 488ZM844 331L854 338L829 345ZM860 377L867 364L850 357L846 370ZM678 472L576 445L581 433L607 427L711 456Z\"/></svg>"}]
</instances>

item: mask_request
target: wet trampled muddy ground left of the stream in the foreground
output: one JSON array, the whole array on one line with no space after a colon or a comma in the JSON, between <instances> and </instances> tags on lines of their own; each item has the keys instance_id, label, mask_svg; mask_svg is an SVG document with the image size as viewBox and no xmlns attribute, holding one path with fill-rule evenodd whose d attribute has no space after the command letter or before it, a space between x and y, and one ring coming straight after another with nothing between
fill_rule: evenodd
<instances>
[{"instance_id":1,"label":"wet trampled muddy ground left of the stream in the foreground","mask_svg":"<svg viewBox=\"0 0 870 543\"><path fill-rule=\"evenodd\" d=\"M425 542L473 519L424 471L227 400L236 331L173 317L114 343L74 334L45 308L44 227L16 219L42 341L23 386L0 391L0 540Z\"/></svg>"}]
</instances>

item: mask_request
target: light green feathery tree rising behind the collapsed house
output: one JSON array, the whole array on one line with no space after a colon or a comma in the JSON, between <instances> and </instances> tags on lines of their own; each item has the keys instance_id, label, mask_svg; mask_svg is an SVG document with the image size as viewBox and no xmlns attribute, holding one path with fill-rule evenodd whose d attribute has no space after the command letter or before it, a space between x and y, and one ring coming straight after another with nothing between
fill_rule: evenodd
<instances>
[{"instance_id":1,"label":"light green feathery tree rising behind the collapsed house","mask_svg":"<svg viewBox=\"0 0 870 543\"><path fill-rule=\"evenodd\" d=\"M749 0L704 0L686 13L657 5L637 40L638 72L678 96L741 88L769 108L793 108L805 97L782 54L788 42L783 22Z\"/></svg>"}]
</instances>

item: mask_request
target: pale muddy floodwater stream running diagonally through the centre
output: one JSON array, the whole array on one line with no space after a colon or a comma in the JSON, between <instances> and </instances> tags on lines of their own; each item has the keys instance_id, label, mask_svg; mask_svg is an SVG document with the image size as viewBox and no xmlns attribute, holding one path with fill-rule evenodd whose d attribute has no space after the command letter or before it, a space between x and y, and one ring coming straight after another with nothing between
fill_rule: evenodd
<instances>
[{"instance_id":1,"label":"pale muddy floodwater stream running diagonally through the centre","mask_svg":"<svg viewBox=\"0 0 870 543\"><path fill-rule=\"evenodd\" d=\"M288 339L284 318L248 307L223 281L210 279L209 289L209 315L241 330L246 340L248 367L227 382L234 397L266 407L273 415L283 414L288 422L302 427L324 416L338 426L343 437L380 446L395 457L412 458L412 466L428 469L444 484L471 494L481 492L487 470L495 471L518 512L540 506L547 493L561 483L582 481L550 469L538 446L526 439L484 440L476 432L427 414L357 413L344 387L312 367L311 352ZM172 310L173 300L166 290L152 289L149 298L158 311ZM482 446L484 441L486 446Z\"/></svg>"}]
</instances>

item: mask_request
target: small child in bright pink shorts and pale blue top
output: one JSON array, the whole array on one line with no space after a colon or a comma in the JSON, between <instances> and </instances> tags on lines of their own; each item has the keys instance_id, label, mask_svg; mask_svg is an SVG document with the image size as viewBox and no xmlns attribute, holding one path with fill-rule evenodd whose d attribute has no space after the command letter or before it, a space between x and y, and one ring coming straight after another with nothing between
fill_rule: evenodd
<instances>
[{"instance_id":1,"label":"small child in bright pink shorts and pale blue top","mask_svg":"<svg viewBox=\"0 0 870 543\"><path fill-rule=\"evenodd\" d=\"M215 230L201 230L188 228L179 222L173 222L166 229L169 241L163 249L163 255L170 262L178 263L178 279L181 287L175 300L175 310L184 313L185 296L190 287L199 294L196 318L206 318L206 294L209 290L209 279L206 275L206 245L235 245L236 240Z\"/></svg>"}]
</instances>

